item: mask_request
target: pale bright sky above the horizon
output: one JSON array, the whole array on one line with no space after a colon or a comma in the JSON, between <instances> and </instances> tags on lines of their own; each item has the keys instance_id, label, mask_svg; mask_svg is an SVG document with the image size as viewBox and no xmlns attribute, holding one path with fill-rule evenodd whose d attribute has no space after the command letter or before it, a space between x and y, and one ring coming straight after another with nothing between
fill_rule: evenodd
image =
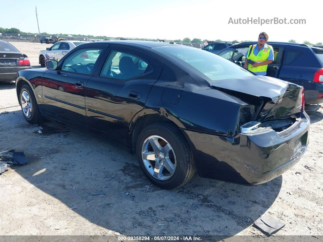
<instances>
[{"instance_id":1,"label":"pale bright sky above the horizon","mask_svg":"<svg viewBox=\"0 0 323 242\"><path fill-rule=\"evenodd\" d=\"M314 8L319 7L319 1L306 5L291 1L241 0L1 0L0 5L0 27L16 27L25 32L38 32L37 5L40 32L51 34L241 41L256 40L258 34L265 31L272 41L323 42L321 16ZM230 17L286 17L287 20L306 19L306 24L232 25L228 24Z\"/></svg>"}]
</instances>

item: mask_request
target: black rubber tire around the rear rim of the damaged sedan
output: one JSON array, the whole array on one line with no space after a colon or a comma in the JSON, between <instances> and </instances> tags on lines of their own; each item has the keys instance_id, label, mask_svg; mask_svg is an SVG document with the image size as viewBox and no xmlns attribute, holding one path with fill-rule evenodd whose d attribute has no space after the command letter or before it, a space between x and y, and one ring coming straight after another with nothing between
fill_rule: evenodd
<instances>
[{"instance_id":1,"label":"black rubber tire around the rear rim of the damaged sedan","mask_svg":"<svg viewBox=\"0 0 323 242\"><path fill-rule=\"evenodd\" d=\"M154 177L146 168L142 158L142 146L150 136L160 136L172 146L176 157L176 167L172 176L166 180ZM138 136L136 154L138 163L147 178L156 186L163 189L174 189L186 184L195 174L193 154L180 131L170 124L154 123L144 128Z\"/></svg>"}]
</instances>

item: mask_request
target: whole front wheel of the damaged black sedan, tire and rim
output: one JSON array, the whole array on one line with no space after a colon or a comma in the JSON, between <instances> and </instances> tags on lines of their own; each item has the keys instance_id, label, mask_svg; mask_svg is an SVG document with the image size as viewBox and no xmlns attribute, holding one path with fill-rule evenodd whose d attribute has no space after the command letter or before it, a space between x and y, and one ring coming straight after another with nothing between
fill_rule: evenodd
<instances>
[{"instance_id":1,"label":"whole front wheel of the damaged black sedan, tire and rim","mask_svg":"<svg viewBox=\"0 0 323 242\"><path fill-rule=\"evenodd\" d=\"M35 95L29 85L25 84L22 86L19 101L23 115L28 122L40 123L44 121L44 118L40 114Z\"/></svg>"}]
</instances>

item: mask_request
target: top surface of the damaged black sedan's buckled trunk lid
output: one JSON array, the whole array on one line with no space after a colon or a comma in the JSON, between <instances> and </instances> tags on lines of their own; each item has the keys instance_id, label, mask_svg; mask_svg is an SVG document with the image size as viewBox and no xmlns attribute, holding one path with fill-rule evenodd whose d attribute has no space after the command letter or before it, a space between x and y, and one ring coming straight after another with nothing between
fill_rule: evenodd
<instances>
[{"instance_id":1,"label":"top surface of the damaged black sedan's buckled trunk lid","mask_svg":"<svg viewBox=\"0 0 323 242\"><path fill-rule=\"evenodd\" d=\"M252 76L234 79L209 81L218 88L247 93L256 97L267 97L275 100L289 88L288 82L273 77Z\"/></svg>"}]
</instances>

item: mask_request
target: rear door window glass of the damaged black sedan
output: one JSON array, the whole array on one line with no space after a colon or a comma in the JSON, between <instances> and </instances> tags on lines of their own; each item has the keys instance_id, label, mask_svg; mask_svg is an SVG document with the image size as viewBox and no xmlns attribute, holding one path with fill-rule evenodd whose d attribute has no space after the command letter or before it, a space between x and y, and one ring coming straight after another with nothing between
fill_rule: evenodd
<instances>
[{"instance_id":1,"label":"rear door window glass of the damaged black sedan","mask_svg":"<svg viewBox=\"0 0 323 242\"><path fill-rule=\"evenodd\" d=\"M101 77L132 79L152 71L143 59L121 51L112 50L101 70Z\"/></svg>"}]
</instances>

